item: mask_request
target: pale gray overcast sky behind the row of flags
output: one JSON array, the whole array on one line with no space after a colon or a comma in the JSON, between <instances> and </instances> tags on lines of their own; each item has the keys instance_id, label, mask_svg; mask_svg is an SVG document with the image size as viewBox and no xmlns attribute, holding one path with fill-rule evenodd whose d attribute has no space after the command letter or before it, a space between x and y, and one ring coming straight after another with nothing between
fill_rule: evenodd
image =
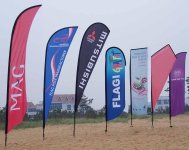
<instances>
[{"instance_id":1,"label":"pale gray overcast sky behind the row of flags","mask_svg":"<svg viewBox=\"0 0 189 150\"><path fill-rule=\"evenodd\" d=\"M130 94L130 49L148 47L151 56L166 44L170 44L175 53L189 52L188 0L1 0L0 106L6 103L8 55L14 21L24 9L38 4L42 4L42 7L30 30L26 56L27 97L28 101L34 103L43 100L47 41L60 28L79 26L63 64L55 94L75 92L79 48L88 26L102 22L110 29L110 35L85 90L85 95L94 98L93 107L96 109L103 107L105 103L104 57L109 47L121 48L126 56L126 105L129 104ZM186 68L186 75L189 76L189 56Z\"/></svg>"}]
</instances>

